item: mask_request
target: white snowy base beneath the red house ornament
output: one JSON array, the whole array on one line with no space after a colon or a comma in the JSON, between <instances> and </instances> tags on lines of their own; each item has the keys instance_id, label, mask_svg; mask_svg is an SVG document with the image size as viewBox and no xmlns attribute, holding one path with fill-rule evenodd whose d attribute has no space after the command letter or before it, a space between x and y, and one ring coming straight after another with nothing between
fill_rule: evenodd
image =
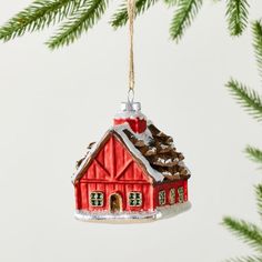
<instances>
[{"instance_id":1,"label":"white snowy base beneath the red house ornament","mask_svg":"<svg viewBox=\"0 0 262 262\"><path fill-rule=\"evenodd\" d=\"M141 223L153 222L161 219L170 219L180 214L191 208L191 203L185 203L157 208L150 212L88 212L77 210L74 213L75 219L85 222L102 222L102 223Z\"/></svg>"}]
</instances>

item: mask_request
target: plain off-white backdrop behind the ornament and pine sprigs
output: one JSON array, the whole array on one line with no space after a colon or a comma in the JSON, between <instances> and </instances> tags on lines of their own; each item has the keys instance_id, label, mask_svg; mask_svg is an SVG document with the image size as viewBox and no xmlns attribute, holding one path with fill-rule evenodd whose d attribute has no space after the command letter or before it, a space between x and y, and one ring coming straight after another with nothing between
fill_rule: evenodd
<instances>
[{"instance_id":1,"label":"plain off-white backdrop behind the ornament and pine sprigs","mask_svg":"<svg viewBox=\"0 0 262 262\"><path fill-rule=\"evenodd\" d=\"M1 1L0 22L29 2ZM74 162L127 97L127 28L108 24L117 6L69 48L42 44L53 30L0 44L0 261L211 262L252 253L220 224L225 214L260 222L261 173L243 149L262 147L261 125L224 88L231 75L256 90L261 81L251 30L230 38L223 2L206 1L179 46L164 4L135 22L137 100L185 154L192 209L149 224L73 219ZM251 19L262 18L262 2L252 6Z\"/></svg>"}]
</instances>

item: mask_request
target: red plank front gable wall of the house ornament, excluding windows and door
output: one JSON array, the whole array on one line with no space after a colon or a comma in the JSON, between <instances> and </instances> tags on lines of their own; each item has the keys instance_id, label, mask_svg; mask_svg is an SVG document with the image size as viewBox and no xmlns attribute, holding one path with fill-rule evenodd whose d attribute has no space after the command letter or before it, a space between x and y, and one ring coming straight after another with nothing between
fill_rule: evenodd
<instances>
[{"instance_id":1,"label":"red plank front gable wall of the house ornament, excluding windows and door","mask_svg":"<svg viewBox=\"0 0 262 262\"><path fill-rule=\"evenodd\" d=\"M118 193L122 198L124 211L153 210L152 182L127 148L112 134L83 177L75 183L75 205L78 210L109 210L110 195ZM89 195L93 191L103 192L103 206L90 205ZM132 191L142 192L141 206L129 205L129 192Z\"/></svg>"}]
</instances>

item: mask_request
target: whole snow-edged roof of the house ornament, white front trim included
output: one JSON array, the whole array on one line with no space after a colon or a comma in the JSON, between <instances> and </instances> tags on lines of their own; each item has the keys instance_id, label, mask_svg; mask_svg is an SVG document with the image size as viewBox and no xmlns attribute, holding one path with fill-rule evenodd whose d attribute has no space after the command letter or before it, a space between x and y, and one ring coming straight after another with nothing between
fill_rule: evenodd
<instances>
[{"instance_id":1,"label":"whole snow-edged roof of the house ornament, white front trim included","mask_svg":"<svg viewBox=\"0 0 262 262\"><path fill-rule=\"evenodd\" d=\"M148 121L148 128L143 133L134 133L128 123L110 128L103 139L99 143L92 144L85 157L80 160L72 177L73 183L81 178L92 161L92 155L100 150L100 145L110 133L115 133L121 138L134 159L140 160L155 182L162 182L165 178L173 180L190 177L190 171L183 162L183 155L177 152L172 138L159 131Z\"/></svg>"}]
</instances>

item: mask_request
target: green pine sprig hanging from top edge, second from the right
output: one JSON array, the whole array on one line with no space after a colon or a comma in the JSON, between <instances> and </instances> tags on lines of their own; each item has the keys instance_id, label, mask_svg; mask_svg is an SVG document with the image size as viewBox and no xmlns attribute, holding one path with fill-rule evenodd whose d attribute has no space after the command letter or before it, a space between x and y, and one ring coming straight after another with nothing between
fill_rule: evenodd
<instances>
[{"instance_id":1,"label":"green pine sprig hanging from top edge, second from the right","mask_svg":"<svg viewBox=\"0 0 262 262\"><path fill-rule=\"evenodd\" d=\"M170 34L173 40L179 40L184 33L184 30L191 26L199 9L202 6L202 0L180 0L178 9L170 27Z\"/></svg>"}]
</instances>

